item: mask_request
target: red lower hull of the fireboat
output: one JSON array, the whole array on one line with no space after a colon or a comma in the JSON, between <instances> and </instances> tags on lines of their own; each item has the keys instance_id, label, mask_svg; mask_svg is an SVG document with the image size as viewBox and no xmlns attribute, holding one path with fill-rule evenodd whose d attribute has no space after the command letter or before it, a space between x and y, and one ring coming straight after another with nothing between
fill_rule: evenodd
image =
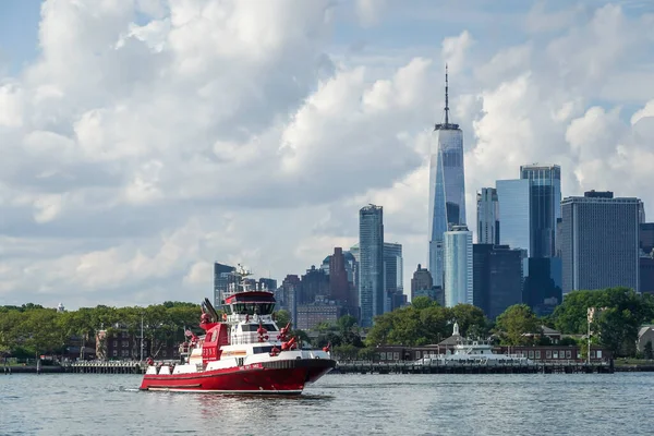
<instances>
[{"instance_id":1,"label":"red lower hull of the fireboat","mask_svg":"<svg viewBox=\"0 0 654 436\"><path fill-rule=\"evenodd\" d=\"M146 374L142 390L217 393L302 393L334 368L326 359L271 361L191 374Z\"/></svg>"}]
</instances>

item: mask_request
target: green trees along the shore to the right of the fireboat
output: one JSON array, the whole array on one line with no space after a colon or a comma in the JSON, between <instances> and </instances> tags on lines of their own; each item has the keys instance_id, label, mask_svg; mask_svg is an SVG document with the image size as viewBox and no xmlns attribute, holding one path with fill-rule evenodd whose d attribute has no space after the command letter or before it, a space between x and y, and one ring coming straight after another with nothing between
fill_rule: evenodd
<instances>
[{"instance_id":1,"label":"green trees along the shore to the right of the fireboat","mask_svg":"<svg viewBox=\"0 0 654 436\"><path fill-rule=\"evenodd\" d=\"M543 335L543 327L549 327L568 335L559 344L583 348L588 339L582 340L581 336L589 330L589 307L595 308L590 323L592 344L606 347L616 356L635 355L640 326L654 319L654 296L641 295L628 288L570 292L553 314L542 317L528 305L517 304L495 320L486 318L481 308L470 304L443 307L426 296L419 296L407 307L377 316L365 341L341 343L336 336L342 334L342 328L323 326L325 332L317 342L330 340L337 344L335 351L342 356L361 359L382 344L436 344L452 335L456 322L461 336L492 339L496 344L546 346L549 339ZM359 329L354 326L351 331L358 332ZM645 347L645 352L651 349L652 346ZM649 353L652 354L651 351Z\"/></svg>"}]
</instances>

